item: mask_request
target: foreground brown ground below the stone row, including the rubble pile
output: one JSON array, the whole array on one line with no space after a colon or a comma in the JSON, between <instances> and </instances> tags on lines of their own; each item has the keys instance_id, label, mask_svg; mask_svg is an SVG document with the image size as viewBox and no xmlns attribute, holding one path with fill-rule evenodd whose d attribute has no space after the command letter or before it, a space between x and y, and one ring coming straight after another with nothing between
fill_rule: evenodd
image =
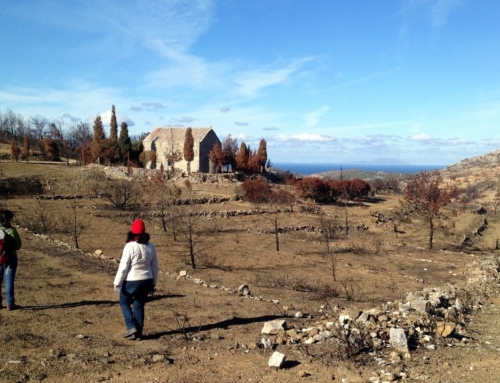
<instances>
[{"instance_id":1,"label":"foreground brown ground below the stone row, including the rubble pile","mask_svg":"<svg viewBox=\"0 0 500 383\"><path fill-rule=\"evenodd\" d=\"M449 334L443 334L444 327L438 328L435 322L415 325L418 320L410 321L408 314L417 310L405 304L411 306L413 301L417 308L418 302L429 298L437 309L444 307L444 296L455 304L457 298L450 293L458 291L457 286L430 289L419 298L416 294L374 308L371 315L353 308L299 314L272 297L206 285L194 273L178 275L164 268L159 291L148 303L146 337L136 342L121 338L123 325L111 287L112 260L68 251L28 232L21 234L24 248L17 296L22 308L0 311L0 337L8 345L0 352L0 381L498 381L500 299L493 258L471 260L467 289L473 294L468 304L474 311L466 315L467 326L460 330L455 328L460 320L446 320L455 329ZM188 311L192 309L204 311L205 320L191 323ZM432 320L422 312L418 318ZM287 330L266 330L276 321L285 321ZM395 323L406 327L409 349L404 344L391 346L386 329ZM353 329L362 332L366 324L378 346L371 342L371 349L359 353L359 348L346 348L347 341L339 334L349 330L343 333L359 335ZM422 334L413 337L412 345L410 334L416 328ZM335 335L325 336L327 329ZM269 345L263 345L264 340ZM350 342L355 343L355 338ZM275 351L286 359L279 367L269 367Z\"/></svg>"}]
</instances>

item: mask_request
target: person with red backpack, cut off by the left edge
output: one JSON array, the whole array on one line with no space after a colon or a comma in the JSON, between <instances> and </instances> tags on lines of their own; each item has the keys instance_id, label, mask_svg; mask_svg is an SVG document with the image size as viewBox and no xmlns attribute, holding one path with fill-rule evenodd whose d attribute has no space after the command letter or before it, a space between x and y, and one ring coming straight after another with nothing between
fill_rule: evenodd
<instances>
[{"instance_id":1,"label":"person with red backpack, cut off by the left edge","mask_svg":"<svg viewBox=\"0 0 500 383\"><path fill-rule=\"evenodd\" d=\"M21 237L16 228L12 227L13 218L14 213L10 210L0 210L0 230L3 230L13 239L7 263L0 265L0 292L5 277L5 300L7 302L5 308L7 310L16 310L19 308L19 306L16 305L16 299L14 297L14 280L16 279L17 271L17 250L21 248Z\"/></svg>"}]
</instances>

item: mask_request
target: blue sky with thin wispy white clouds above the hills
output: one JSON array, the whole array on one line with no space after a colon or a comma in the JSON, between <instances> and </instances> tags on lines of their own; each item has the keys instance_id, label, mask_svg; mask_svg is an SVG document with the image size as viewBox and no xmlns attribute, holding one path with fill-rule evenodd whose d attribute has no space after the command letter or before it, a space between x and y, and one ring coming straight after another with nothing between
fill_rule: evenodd
<instances>
[{"instance_id":1,"label":"blue sky with thin wispy white clouds above the hills","mask_svg":"<svg viewBox=\"0 0 500 383\"><path fill-rule=\"evenodd\" d=\"M500 1L59 0L0 8L0 111L209 126L272 162L500 148ZM109 130L108 130L109 131Z\"/></svg>"}]
</instances>

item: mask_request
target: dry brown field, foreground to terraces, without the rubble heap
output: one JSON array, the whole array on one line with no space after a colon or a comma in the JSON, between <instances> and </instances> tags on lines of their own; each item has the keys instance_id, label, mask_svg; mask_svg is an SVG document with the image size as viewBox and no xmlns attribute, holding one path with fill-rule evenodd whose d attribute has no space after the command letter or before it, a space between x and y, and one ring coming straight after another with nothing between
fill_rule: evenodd
<instances>
[{"instance_id":1,"label":"dry brown field, foreground to terraces, without the rubble heap","mask_svg":"<svg viewBox=\"0 0 500 383\"><path fill-rule=\"evenodd\" d=\"M347 207L311 208L298 201L292 211L282 206L286 211L276 212L276 206L233 200L240 192L236 181L192 180L188 188L181 178L175 181L180 198L223 199L177 207L194 217L197 267L192 269L181 228L176 240L172 227L163 230L161 194L151 180L127 181L141 193L120 210L106 198L94 197L121 182L97 166L3 162L0 174L3 179L35 177L42 188L41 193L3 195L0 200L16 213L14 224L23 239L16 280L22 307L0 310L0 340L5 345L0 381L6 382L370 381L374 371L388 367L380 367L369 350L346 358L341 347L328 342L275 345L287 362L281 369L268 367L273 349L258 347L262 326L287 318L292 326L304 328L349 308L370 309L409 292L463 284L470 263L491 257L500 238L500 219L492 208L497 181L481 183L498 174L491 169L488 174L471 170L468 179L467 173L447 178L463 185L481 183L482 192L470 206L480 203L488 213L470 208L442 221L432 251L427 249L426 224L416 216L401 219L399 195L380 195L362 206ZM75 196L79 198L66 198ZM156 295L146 306L142 342L121 338L124 325L112 289L116 261L137 217L146 222L161 270ZM325 217L341 227L346 220L349 225L347 236L342 229L331 240L328 253L317 231ZM473 236L485 219L487 229ZM67 230L71 222L81 231L78 251ZM293 229L279 234L279 251L275 224ZM45 235L39 235L42 229ZM461 247L465 235L472 235L471 243ZM96 250L102 252L100 257L94 255ZM178 278L182 270L193 279ZM241 284L249 286L254 298L228 291ZM500 350L498 303L488 302L482 316L470 324L479 342L470 350L412 351L402 366L407 381L498 381L491 375L499 352L495 347ZM299 311L303 317L294 318ZM481 327L480 321L487 326ZM490 337L486 351L477 346L483 337L485 342Z\"/></svg>"}]
</instances>

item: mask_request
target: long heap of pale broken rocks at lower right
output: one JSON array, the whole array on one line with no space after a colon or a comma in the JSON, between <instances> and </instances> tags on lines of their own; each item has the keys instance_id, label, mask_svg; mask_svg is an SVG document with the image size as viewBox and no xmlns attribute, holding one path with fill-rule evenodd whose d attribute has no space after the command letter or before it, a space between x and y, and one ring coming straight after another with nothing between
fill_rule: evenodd
<instances>
[{"instance_id":1,"label":"long heap of pale broken rocks at lower right","mask_svg":"<svg viewBox=\"0 0 500 383\"><path fill-rule=\"evenodd\" d=\"M482 300L494 286L492 282L500 277L494 258L473 262L472 266L470 277L461 288L447 284L409 293L405 299L370 310L349 308L333 315L323 312L313 323L297 324L296 319L304 317L300 312L289 316L294 319L266 322L261 330L261 347L322 342L367 351L392 347L399 360L409 358L409 351L419 347L433 350L442 345L465 346L473 342L465 329L468 316L481 308ZM386 361L381 362L385 364ZM383 380L392 381L385 377Z\"/></svg>"}]
</instances>

